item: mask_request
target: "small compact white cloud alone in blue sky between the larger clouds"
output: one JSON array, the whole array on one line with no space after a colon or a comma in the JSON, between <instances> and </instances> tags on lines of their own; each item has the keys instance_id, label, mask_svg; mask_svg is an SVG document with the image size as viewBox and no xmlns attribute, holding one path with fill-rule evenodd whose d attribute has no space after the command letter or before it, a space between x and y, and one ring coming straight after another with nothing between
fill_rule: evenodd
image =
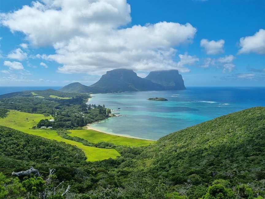
<instances>
[{"instance_id":1,"label":"small compact white cloud alone in blue sky between the larger clouds","mask_svg":"<svg viewBox=\"0 0 265 199\"><path fill-rule=\"evenodd\" d=\"M201 47L203 47L208 55L216 55L224 53L225 40L220 39L218 41L208 41L207 39L201 40Z\"/></svg>"}]
</instances>

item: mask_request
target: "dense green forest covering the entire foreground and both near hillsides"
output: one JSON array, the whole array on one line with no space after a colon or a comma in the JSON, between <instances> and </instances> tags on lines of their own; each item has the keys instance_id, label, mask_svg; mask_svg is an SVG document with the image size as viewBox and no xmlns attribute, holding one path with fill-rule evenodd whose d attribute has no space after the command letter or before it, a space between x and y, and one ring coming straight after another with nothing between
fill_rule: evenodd
<instances>
[{"instance_id":1,"label":"dense green forest covering the entire foreground and both near hillsides","mask_svg":"<svg viewBox=\"0 0 265 199\"><path fill-rule=\"evenodd\" d=\"M44 192L53 199L265 197L265 107L177 131L149 146L119 146L120 157L100 162L86 162L74 146L6 127L0 128L0 143L0 198L41 198ZM11 177L30 166L42 175ZM61 188L51 191L56 186Z\"/></svg>"}]
</instances>

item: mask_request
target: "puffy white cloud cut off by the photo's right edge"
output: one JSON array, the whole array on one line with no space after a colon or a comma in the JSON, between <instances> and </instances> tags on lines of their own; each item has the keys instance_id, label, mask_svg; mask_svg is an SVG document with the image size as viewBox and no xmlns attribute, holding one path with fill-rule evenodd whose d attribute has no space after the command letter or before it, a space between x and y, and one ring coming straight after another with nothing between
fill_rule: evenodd
<instances>
[{"instance_id":1,"label":"puffy white cloud cut off by the photo's right edge","mask_svg":"<svg viewBox=\"0 0 265 199\"><path fill-rule=\"evenodd\" d=\"M239 54L265 54L265 30L259 29L259 31L252 36L240 38L239 45L241 47L241 49L238 51Z\"/></svg>"}]
</instances>

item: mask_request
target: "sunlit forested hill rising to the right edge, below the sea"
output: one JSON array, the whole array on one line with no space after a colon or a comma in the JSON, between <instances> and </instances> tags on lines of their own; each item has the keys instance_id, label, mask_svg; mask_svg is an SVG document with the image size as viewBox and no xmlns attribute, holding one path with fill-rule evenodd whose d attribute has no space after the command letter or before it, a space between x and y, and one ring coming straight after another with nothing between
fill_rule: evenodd
<instances>
[{"instance_id":1,"label":"sunlit forested hill rising to the right edge, below the sea","mask_svg":"<svg viewBox=\"0 0 265 199\"><path fill-rule=\"evenodd\" d=\"M253 107L171 133L146 147L144 170L174 184L265 179L265 107Z\"/></svg>"}]
</instances>

